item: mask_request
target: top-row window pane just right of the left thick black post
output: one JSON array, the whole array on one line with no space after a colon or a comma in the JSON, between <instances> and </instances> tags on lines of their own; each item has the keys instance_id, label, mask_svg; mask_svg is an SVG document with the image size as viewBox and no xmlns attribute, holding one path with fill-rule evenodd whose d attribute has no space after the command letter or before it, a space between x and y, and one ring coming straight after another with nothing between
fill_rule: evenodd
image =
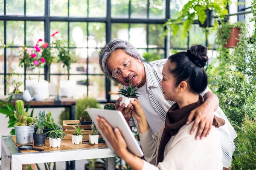
<instances>
[{"instance_id":1,"label":"top-row window pane just right of the left thick black post","mask_svg":"<svg viewBox=\"0 0 256 170\"><path fill-rule=\"evenodd\" d=\"M67 17L67 0L50 0L50 15Z\"/></svg>"}]
</instances>

